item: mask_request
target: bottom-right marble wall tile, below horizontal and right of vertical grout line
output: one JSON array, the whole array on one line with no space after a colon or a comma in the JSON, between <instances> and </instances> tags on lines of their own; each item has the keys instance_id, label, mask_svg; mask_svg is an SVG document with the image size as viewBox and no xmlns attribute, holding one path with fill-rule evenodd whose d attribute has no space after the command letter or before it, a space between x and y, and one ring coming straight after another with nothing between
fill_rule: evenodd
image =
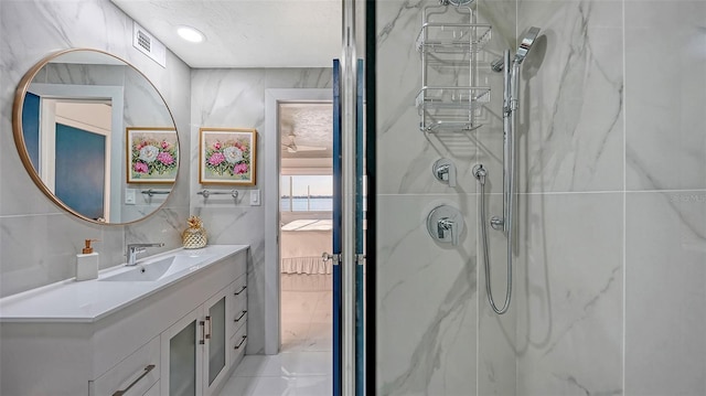
<instances>
[{"instance_id":1,"label":"bottom-right marble wall tile, below horizontal and right of vertical grout line","mask_svg":"<svg viewBox=\"0 0 706 396\"><path fill-rule=\"evenodd\" d=\"M706 192L625 207L625 395L706 394Z\"/></svg>"}]
</instances>

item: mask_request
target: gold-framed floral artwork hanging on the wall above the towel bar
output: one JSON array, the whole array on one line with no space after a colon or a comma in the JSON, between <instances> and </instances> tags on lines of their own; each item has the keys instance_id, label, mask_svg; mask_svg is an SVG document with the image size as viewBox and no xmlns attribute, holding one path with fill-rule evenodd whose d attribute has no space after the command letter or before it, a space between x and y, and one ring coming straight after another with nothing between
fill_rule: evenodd
<instances>
[{"instance_id":1,"label":"gold-framed floral artwork hanging on the wall above the towel bar","mask_svg":"<svg viewBox=\"0 0 706 396\"><path fill-rule=\"evenodd\" d=\"M255 129L199 129L199 183L255 185Z\"/></svg>"}]
</instances>

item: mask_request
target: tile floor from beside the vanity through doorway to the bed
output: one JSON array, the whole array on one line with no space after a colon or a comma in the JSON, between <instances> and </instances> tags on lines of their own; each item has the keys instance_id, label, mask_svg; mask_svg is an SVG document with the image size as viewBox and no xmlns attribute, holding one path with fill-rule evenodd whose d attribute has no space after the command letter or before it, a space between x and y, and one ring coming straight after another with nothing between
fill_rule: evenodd
<instances>
[{"instance_id":1,"label":"tile floor from beside the vanity through doorway to the bed","mask_svg":"<svg viewBox=\"0 0 706 396\"><path fill-rule=\"evenodd\" d=\"M330 396L331 275L285 275L282 347L278 355L248 355L221 396Z\"/></svg>"}]
</instances>

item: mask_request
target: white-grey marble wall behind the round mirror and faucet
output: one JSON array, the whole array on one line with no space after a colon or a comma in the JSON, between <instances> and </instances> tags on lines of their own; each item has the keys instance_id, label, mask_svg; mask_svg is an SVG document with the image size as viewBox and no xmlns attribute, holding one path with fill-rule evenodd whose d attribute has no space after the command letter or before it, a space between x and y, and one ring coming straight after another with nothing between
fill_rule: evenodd
<instances>
[{"instance_id":1,"label":"white-grey marble wall behind the round mirror and faucet","mask_svg":"<svg viewBox=\"0 0 706 396\"><path fill-rule=\"evenodd\" d=\"M180 172L168 204L149 220L100 226L47 200L28 176L12 140L13 95L24 73L53 51L92 47L126 60L150 78L170 106L182 152L190 152L190 68L170 52L162 68L132 47L131 34L132 20L108 0L0 1L0 296L73 277L75 254L88 237L101 240L96 250L103 268L122 263L130 242L161 240L164 249L181 245L179 231L189 215L188 169Z\"/></svg>"}]
</instances>

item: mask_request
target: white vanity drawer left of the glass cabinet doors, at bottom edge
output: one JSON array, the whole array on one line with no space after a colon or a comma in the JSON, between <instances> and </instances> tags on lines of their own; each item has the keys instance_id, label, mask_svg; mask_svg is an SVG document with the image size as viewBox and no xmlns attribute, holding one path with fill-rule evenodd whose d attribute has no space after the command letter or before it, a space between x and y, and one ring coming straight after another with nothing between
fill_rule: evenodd
<instances>
[{"instance_id":1,"label":"white vanity drawer left of the glass cabinet doors, at bottom edge","mask_svg":"<svg viewBox=\"0 0 706 396\"><path fill-rule=\"evenodd\" d=\"M95 396L114 395L118 390L129 388L122 395L145 395L159 381L161 370L159 349L159 336L156 336L99 376L93 384L94 392L92 394Z\"/></svg>"}]
</instances>

